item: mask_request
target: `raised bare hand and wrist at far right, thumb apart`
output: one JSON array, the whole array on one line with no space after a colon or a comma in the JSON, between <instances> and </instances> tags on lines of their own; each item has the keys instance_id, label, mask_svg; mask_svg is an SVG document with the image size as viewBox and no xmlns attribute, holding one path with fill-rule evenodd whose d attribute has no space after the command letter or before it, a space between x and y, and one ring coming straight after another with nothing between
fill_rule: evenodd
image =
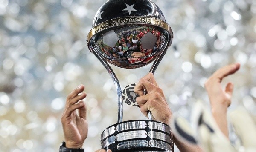
<instances>
[{"instance_id":1,"label":"raised bare hand and wrist at far right, thumb apart","mask_svg":"<svg viewBox=\"0 0 256 152\"><path fill-rule=\"evenodd\" d=\"M211 108L212 116L215 119L218 127L221 129L224 135L228 138L227 127L227 107L231 104L231 98L233 93L233 83L227 83L225 90L221 87L221 81L224 77L235 73L239 70L240 64L230 64L218 69L213 73L211 77L204 83L204 87L207 90Z\"/></svg>"}]
</instances>

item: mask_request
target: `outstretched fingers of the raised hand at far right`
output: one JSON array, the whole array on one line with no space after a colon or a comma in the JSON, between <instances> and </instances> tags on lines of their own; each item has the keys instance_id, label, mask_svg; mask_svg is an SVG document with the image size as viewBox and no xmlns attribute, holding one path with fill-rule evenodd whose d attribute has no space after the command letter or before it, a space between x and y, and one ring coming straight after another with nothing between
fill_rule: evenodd
<instances>
[{"instance_id":1,"label":"outstretched fingers of the raised hand at far right","mask_svg":"<svg viewBox=\"0 0 256 152\"><path fill-rule=\"evenodd\" d=\"M218 69L216 72L214 72L212 77L218 78L219 82L221 82L221 80L224 77L235 73L237 70L239 70L239 68L240 68L240 64L239 63L230 64L228 66L224 66L221 69Z\"/></svg>"}]
</instances>

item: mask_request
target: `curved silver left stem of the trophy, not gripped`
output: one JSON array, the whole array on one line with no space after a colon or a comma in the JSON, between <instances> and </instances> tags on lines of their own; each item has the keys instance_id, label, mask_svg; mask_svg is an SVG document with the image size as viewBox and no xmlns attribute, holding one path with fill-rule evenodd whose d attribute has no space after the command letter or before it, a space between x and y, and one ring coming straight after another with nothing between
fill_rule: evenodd
<instances>
[{"instance_id":1,"label":"curved silver left stem of the trophy, not gripped","mask_svg":"<svg viewBox=\"0 0 256 152\"><path fill-rule=\"evenodd\" d=\"M123 118L123 102L122 102L122 90L119 84L119 80L116 77L115 72L113 72L113 69L110 67L108 62L101 57L101 55L95 51L94 55L99 59L99 61L103 64L105 69L108 71L109 75L111 76L115 86L116 86L116 92L118 96L118 117L117 117L117 123L122 122Z\"/></svg>"}]
</instances>

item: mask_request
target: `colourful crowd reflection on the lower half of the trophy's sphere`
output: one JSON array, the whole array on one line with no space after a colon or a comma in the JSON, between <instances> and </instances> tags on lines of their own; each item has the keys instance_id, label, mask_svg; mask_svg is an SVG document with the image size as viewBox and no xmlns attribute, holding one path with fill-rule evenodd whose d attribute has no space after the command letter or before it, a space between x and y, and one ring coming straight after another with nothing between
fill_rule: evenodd
<instances>
[{"instance_id":1,"label":"colourful crowd reflection on the lower half of the trophy's sphere","mask_svg":"<svg viewBox=\"0 0 256 152\"><path fill-rule=\"evenodd\" d=\"M148 32L151 32L157 37L157 42L154 49L143 49L140 39ZM140 27L131 29L116 30L116 35L119 37L116 45L112 48L104 44L102 40L98 40L102 52L105 52L109 57L116 59L128 59L129 63L148 62L149 59L143 60L142 57L150 55L159 48L162 36L160 31L150 27ZM151 57L150 57L151 59Z\"/></svg>"}]
</instances>

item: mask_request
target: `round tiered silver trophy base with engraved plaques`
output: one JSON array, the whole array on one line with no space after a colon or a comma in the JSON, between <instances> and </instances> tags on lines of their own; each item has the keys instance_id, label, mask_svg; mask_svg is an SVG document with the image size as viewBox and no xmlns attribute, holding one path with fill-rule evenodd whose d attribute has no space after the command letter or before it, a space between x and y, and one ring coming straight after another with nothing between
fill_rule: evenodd
<instances>
[{"instance_id":1,"label":"round tiered silver trophy base with engraved plaques","mask_svg":"<svg viewBox=\"0 0 256 152\"><path fill-rule=\"evenodd\" d=\"M109 126L101 135L102 149L112 152L173 152L171 128L154 120L130 120Z\"/></svg>"}]
</instances>

